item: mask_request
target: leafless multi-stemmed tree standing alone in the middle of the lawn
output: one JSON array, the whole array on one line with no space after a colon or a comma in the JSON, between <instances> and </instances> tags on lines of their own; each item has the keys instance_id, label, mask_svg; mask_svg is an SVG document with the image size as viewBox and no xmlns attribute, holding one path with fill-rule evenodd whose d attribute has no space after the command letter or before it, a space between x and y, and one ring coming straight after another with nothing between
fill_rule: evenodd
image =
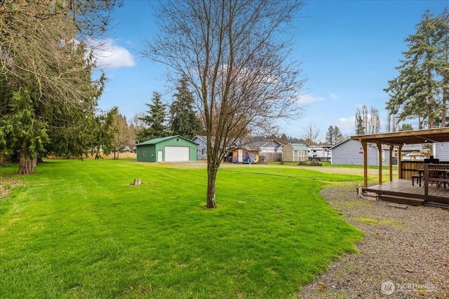
<instances>
[{"instance_id":1,"label":"leafless multi-stemmed tree standing alone in the middle of the lawn","mask_svg":"<svg viewBox=\"0 0 449 299\"><path fill-rule=\"evenodd\" d=\"M290 60L288 25L300 1L164 1L159 35L143 55L166 64L169 79L185 76L207 135L207 207L229 145L243 132L267 132L278 118L297 117L304 78Z\"/></svg>"}]
</instances>

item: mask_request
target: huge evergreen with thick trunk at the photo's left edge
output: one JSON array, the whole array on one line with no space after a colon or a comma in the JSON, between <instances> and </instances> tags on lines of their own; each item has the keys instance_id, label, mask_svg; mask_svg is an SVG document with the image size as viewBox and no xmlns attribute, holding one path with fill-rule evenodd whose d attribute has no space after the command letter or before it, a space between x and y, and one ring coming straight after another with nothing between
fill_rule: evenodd
<instances>
[{"instance_id":1,"label":"huge evergreen with thick trunk at the photo's left edge","mask_svg":"<svg viewBox=\"0 0 449 299\"><path fill-rule=\"evenodd\" d=\"M81 156L105 77L86 34L107 27L112 1L0 1L0 152L32 174L48 152ZM82 19L82 20L81 20Z\"/></svg>"}]
</instances>

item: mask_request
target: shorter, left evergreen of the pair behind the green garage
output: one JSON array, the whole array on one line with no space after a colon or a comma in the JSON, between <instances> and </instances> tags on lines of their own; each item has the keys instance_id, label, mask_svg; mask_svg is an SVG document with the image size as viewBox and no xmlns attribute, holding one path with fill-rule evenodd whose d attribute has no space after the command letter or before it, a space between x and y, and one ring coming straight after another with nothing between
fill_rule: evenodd
<instances>
[{"instance_id":1,"label":"shorter, left evergreen of the pair behind the green garage","mask_svg":"<svg viewBox=\"0 0 449 299\"><path fill-rule=\"evenodd\" d=\"M162 104L161 94L153 92L152 103L145 104L149 107L147 115L139 118L145 123L145 127L138 132L138 141L143 142L168 135L166 125L166 105Z\"/></svg>"}]
</instances>

